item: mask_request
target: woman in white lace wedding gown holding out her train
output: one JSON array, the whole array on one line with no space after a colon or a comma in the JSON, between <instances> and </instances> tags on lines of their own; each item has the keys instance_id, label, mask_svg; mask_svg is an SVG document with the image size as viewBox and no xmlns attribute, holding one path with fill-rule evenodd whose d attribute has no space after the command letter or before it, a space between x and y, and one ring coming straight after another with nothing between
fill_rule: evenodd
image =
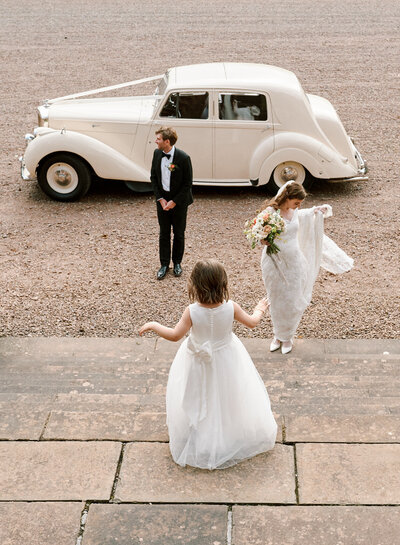
<instances>
[{"instance_id":1,"label":"woman in white lace wedding gown holding out her train","mask_svg":"<svg viewBox=\"0 0 400 545\"><path fill-rule=\"evenodd\" d=\"M284 232L275 239L279 252L261 255L261 269L270 303L274 338L271 352L282 345L282 354L293 347L301 317L311 301L319 267L338 274L349 271L353 260L324 235L324 218L332 208L324 204L299 210L307 194L297 182L287 182L266 202L270 211L280 210Z\"/></svg>"}]
</instances>

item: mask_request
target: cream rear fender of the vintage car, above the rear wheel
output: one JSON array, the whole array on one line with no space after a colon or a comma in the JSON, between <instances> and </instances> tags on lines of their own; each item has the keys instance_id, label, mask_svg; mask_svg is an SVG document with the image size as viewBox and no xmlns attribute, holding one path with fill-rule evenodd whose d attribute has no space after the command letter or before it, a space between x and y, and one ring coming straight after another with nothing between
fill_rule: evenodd
<instances>
[{"instance_id":1,"label":"cream rear fender of the vintage car, above the rear wheel","mask_svg":"<svg viewBox=\"0 0 400 545\"><path fill-rule=\"evenodd\" d=\"M305 134L284 132L276 134L274 152L266 157L258 173L251 172L251 179L266 184L275 167L287 161L300 163L316 178L346 176L349 171L345 158L325 143Z\"/></svg>"}]
</instances>

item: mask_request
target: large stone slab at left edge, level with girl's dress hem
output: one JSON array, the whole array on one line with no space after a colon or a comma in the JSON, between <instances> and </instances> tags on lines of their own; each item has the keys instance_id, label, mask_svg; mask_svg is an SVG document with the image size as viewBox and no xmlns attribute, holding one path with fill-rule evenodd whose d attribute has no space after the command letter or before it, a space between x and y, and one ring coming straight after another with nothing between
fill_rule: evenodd
<instances>
[{"instance_id":1,"label":"large stone slab at left edge, level with girl's dress hem","mask_svg":"<svg viewBox=\"0 0 400 545\"><path fill-rule=\"evenodd\" d=\"M0 442L0 500L108 500L120 443Z\"/></svg>"}]
</instances>

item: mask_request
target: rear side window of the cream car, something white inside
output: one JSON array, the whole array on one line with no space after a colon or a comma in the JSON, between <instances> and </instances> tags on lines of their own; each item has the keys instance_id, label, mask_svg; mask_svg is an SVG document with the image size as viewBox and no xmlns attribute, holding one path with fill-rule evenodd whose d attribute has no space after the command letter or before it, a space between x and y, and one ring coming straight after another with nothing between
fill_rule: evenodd
<instances>
[{"instance_id":1,"label":"rear side window of the cream car, something white inside","mask_svg":"<svg viewBox=\"0 0 400 545\"><path fill-rule=\"evenodd\" d=\"M220 93L218 96L220 119L267 120L265 95L258 93Z\"/></svg>"}]
</instances>

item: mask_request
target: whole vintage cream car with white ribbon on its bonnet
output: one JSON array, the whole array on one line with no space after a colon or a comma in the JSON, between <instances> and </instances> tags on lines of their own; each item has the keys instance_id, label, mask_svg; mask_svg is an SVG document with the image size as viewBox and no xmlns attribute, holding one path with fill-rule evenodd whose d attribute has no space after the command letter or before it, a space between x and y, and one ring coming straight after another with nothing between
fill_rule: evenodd
<instances>
[{"instance_id":1,"label":"whole vintage cream car with white ribbon on its bonnet","mask_svg":"<svg viewBox=\"0 0 400 545\"><path fill-rule=\"evenodd\" d=\"M159 80L153 95L82 98ZM366 180L367 167L331 103L306 94L288 70L211 63L47 100L20 158L50 197L82 197L93 174L149 189L155 130L173 126L192 158L194 184Z\"/></svg>"}]
</instances>

